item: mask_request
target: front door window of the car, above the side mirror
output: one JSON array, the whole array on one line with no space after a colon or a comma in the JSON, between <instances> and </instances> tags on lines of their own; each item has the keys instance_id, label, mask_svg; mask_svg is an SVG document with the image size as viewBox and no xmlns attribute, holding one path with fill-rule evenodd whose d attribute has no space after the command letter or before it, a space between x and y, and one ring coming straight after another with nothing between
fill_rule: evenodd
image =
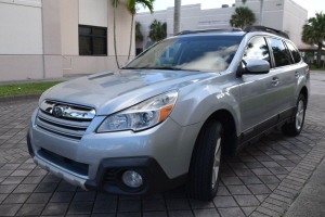
<instances>
[{"instance_id":1,"label":"front door window of the car, above the side mirror","mask_svg":"<svg viewBox=\"0 0 325 217\"><path fill-rule=\"evenodd\" d=\"M271 65L269 48L263 37L252 38L247 44L243 61L247 63L249 60L264 60Z\"/></svg>"}]
</instances>

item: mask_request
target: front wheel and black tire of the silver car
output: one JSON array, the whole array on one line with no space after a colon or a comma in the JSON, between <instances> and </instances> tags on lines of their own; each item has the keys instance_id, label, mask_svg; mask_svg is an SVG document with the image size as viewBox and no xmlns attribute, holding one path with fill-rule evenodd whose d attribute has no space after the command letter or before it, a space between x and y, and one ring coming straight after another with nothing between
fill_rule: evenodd
<instances>
[{"instance_id":1,"label":"front wheel and black tire of the silver car","mask_svg":"<svg viewBox=\"0 0 325 217\"><path fill-rule=\"evenodd\" d=\"M185 186L190 197L211 201L218 191L223 128L210 119L202 128L193 150Z\"/></svg>"}]
</instances>

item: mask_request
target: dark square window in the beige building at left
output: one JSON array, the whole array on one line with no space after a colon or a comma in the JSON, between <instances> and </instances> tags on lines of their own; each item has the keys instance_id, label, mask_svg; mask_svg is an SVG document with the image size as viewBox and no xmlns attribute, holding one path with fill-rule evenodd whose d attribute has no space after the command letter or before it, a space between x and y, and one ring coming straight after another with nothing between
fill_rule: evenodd
<instances>
[{"instance_id":1,"label":"dark square window in the beige building at left","mask_svg":"<svg viewBox=\"0 0 325 217\"><path fill-rule=\"evenodd\" d=\"M79 25L79 55L107 55L107 28Z\"/></svg>"}]
</instances>

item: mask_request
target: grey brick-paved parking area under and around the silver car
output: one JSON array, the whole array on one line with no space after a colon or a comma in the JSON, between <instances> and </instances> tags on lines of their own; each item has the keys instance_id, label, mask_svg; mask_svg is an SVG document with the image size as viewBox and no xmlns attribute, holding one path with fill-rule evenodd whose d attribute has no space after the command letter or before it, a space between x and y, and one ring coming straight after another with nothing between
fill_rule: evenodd
<instances>
[{"instance_id":1,"label":"grey brick-paved parking area under and around the silver car","mask_svg":"<svg viewBox=\"0 0 325 217\"><path fill-rule=\"evenodd\" d=\"M281 216L325 155L325 73L312 72L303 131L280 130L222 162L212 202L186 197L183 188L153 196L87 192L37 167L26 132L37 100L0 103L0 216Z\"/></svg>"}]
</instances>

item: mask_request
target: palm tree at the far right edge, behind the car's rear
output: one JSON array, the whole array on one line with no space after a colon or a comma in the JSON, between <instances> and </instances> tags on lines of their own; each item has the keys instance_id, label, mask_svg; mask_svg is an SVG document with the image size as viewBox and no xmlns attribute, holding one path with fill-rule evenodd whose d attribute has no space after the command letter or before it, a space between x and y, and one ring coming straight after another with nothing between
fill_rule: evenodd
<instances>
[{"instance_id":1,"label":"palm tree at the far right edge, behind the car's rear","mask_svg":"<svg viewBox=\"0 0 325 217\"><path fill-rule=\"evenodd\" d=\"M325 14L316 13L315 17L311 17L302 27L301 40L306 43L317 44L317 63L316 68L321 67L322 48L325 41Z\"/></svg>"}]
</instances>

